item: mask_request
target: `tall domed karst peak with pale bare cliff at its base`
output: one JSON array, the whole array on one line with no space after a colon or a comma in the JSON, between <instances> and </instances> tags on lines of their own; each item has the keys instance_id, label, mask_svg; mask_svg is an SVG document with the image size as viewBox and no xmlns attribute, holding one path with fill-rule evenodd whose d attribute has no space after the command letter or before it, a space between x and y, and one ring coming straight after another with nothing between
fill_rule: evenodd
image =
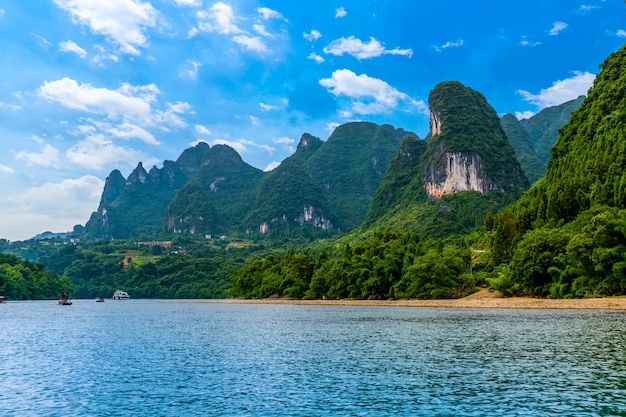
<instances>
[{"instance_id":1,"label":"tall domed karst peak with pale bare cliff at its base","mask_svg":"<svg viewBox=\"0 0 626 417\"><path fill-rule=\"evenodd\" d=\"M440 199L460 191L520 193L528 187L500 119L484 96L456 81L429 97L430 139L422 186Z\"/></svg>"}]
</instances>

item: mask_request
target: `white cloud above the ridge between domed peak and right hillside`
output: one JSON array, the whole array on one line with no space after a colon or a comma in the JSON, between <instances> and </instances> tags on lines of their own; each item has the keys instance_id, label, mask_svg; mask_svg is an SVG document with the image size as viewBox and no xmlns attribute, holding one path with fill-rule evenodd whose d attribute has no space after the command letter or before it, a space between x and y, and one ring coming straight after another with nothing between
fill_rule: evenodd
<instances>
[{"instance_id":1,"label":"white cloud above the ridge between domed peak and right hillside","mask_svg":"<svg viewBox=\"0 0 626 417\"><path fill-rule=\"evenodd\" d=\"M517 93L541 110L545 107L558 106L581 95L587 95L594 79L595 74L574 71L574 76L555 81L551 87L542 89L539 94L532 94L526 90L517 90Z\"/></svg>"}]
</instances>

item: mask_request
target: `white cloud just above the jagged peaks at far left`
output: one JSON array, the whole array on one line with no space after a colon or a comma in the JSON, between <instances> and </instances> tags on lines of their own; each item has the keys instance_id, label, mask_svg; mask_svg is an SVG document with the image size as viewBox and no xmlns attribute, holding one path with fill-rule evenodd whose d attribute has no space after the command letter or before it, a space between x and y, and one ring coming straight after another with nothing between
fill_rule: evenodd
<instances>
[{"instance_id":1,"label":"white cloud just above the jagged peaks at far left","mask_svg":"<svg viewBox=\"0 0 626 417\"><path fill-rule=\"evenodd\" d=\"M143 152L116 146L102 134L88 136L68 149L65 156L77 165L97 170L107 165L135 166L137 161L142 161L146 166L158 162Z\"/></svg>"}]
</instances>

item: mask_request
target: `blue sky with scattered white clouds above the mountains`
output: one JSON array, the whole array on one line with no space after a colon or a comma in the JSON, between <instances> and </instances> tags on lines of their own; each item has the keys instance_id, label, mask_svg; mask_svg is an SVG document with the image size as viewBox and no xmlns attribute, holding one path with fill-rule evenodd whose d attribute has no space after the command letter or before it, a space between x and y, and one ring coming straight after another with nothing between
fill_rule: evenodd
<instances>
[{"instance_id":1,"label":"blue sky with scattered white clouds above the mountains","mask_svg":"<svg viewBox=\"0 0 626 417\"><path fill-rule=\"evenodd\" d=\"M500 115L585 94L626 42L617 0L0 0L0 238L85 224L199 141L271 170L351 121L428 133L458 80Z\"/></svg>"}]
</instances>

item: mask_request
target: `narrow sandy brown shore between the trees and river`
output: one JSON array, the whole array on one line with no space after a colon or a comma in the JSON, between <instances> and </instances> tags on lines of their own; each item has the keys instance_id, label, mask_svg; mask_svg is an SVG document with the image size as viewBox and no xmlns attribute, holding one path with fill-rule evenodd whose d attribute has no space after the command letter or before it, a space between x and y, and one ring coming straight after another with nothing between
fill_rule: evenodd
<instances>
[{"instance_id":1,"label":"narrow sandy brown shore between the trees and river","mask_svg":"<svg viewBox=\"0 0 626 417\"><path fill-rule=\"evenodd\" d=\"M297 300L284 298L266 298L262 300L228 299L193 301L230 304L626 310L626 297L548 300L530 297L502 297L497 292L490 293L486 289L481 289L472 295L455 300Z\"/></svg>"}]
</instances>

